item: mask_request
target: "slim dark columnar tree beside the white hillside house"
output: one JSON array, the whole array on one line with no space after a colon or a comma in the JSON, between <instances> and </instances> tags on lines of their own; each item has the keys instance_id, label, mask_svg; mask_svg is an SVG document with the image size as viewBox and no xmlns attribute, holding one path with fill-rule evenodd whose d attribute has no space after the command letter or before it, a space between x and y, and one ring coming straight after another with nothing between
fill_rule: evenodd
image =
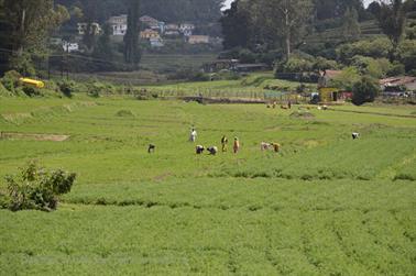
<instances>
[{"instance_id":1,"label":"slim dark columnar tree beside the white hillside house","mask_svg":"<svg viewBox=\"0 0 416 276\"><path fill-rule=\"evenodd\" d=\"M141 59L139 47L140 0L129 0L128 30L124 35L124 60L138 65Z\"/></svg>"}]
</instances>

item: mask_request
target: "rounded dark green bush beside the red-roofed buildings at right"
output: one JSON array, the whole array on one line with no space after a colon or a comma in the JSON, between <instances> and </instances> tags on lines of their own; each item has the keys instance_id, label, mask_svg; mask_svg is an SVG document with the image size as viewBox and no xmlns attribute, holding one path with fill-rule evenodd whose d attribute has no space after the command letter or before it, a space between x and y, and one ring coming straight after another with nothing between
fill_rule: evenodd
<instances>
[{"instance_id":1,"label":"rounded dark green bush beside the red-roofed buildings at right","mask_svg":"<svg viewBox=\"0 0 416 276\"><path fill-rule=\"evenodd\" d=\"M352 88L352 103L361 106L365 102L373 102L380 91L377 84L370 77L362 77Z\"/></svg>"}]
</instances>

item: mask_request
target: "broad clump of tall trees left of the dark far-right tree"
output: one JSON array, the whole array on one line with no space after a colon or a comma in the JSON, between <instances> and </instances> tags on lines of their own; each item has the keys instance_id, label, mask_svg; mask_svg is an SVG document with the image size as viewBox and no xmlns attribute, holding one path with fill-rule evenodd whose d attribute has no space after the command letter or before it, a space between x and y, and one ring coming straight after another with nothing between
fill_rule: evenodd
<instances>
[{"instance_id":1,"label":"broad clump of tall trees left of the dark far-right tree","mask_svg":"<svg viewBox=\"0 0 416 276\"><path fill-rule=\"evenodd\" d=\"M282 47L289 56L319 19L346 14L348 31L357 27L360 0L237 0L221 19L225 47Z\"/></svg>"}]
</instances>

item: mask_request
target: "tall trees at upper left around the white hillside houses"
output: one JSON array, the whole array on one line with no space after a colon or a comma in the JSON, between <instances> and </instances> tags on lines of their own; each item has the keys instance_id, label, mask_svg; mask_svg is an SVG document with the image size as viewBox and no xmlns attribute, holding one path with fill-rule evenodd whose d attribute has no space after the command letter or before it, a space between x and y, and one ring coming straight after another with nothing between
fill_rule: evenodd
<instances>
[{"instance_id":1,"label":"tall trees at upper left around the white hillside houses","mask_svg":"<svg viewBox=\"0 0 416 276\"><path fill-rule=\"evenodd\" d=\"M139 46L140 0L125 0L129 10L129 29L124 38L124 62L136 66L141 52ZM105 26L105 34L95 35L94 19L98 14L98 0L84 1L83 9L70 7L67 9L56 4L54 0L0 0L0 73L14 69L24 76L36 74L35 64L46 60L53 48L50 44L51 35L65 22L85 20L87 31L84 44L87 55L111 59L110 30ZM63 37L67 40L67 37ZM58 47L59 48L59 47ZM62 52L62 48L61 48ZM53 57L50 64L63 57ZM79 63L79 60L77 60ZM66 60L70 65L69 58Z\"/></svg>"}]
</instances>

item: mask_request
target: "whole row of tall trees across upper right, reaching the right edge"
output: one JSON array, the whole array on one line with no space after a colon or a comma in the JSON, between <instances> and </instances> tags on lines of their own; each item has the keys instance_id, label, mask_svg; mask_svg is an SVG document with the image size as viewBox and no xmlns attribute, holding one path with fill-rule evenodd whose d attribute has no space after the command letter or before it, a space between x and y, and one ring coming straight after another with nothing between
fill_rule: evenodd
<instances>
[{"instance_id":1,"label":"whole row of tall trees across upper right, reaching the right edge","mask_svg":"<svg viewBox=\"0 0 416 276\"><path fill-rule=\"evenodd\" d=\"M406 13L414 9L414 0L374 2L368 10L361 0L237 0L221 18L223 46L252 52L282 49L288 59L293 49L302 48L305 37L316 29L326 22L333 27L330 19L341 23L339 45L359 40L360 18L373 16L393 45L390 53L393 59L403 38Z\"/></svg>"}]
</instances>

